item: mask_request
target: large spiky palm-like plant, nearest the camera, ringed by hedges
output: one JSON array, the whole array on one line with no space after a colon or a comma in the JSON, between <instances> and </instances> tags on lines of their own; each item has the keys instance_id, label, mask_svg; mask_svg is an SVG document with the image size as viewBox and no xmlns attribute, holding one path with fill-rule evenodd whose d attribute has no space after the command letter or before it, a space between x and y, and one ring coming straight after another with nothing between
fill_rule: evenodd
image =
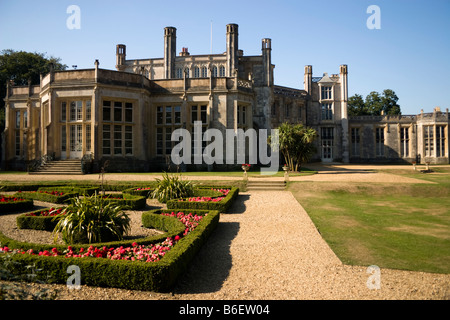
<instances>
[{"instance_id":1,"label":"large spiky palm-like plant, nearest the camera, ringed by hedges","mask_svg":"<svg viewBox=\"0 0 450 320\"><path fill-rule=\"evenodd\" d=\"M55 242L59 234L67 244L122 240L130 230L130 218L124 207L111 203L97 193L71 200L53 230Z\"/></svg>"}]
</instances>

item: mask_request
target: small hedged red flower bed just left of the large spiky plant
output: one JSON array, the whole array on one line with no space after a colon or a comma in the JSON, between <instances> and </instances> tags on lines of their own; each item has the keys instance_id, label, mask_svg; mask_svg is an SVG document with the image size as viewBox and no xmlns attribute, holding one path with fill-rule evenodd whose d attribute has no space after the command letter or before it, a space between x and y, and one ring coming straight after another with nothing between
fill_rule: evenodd
<instances>
[{"instance_id":1,"label":"small hedged red flower bed just left of the large spiky plant","mask_svg":"<svg viewBox=\"0 0 450 320\"><path fill-rule=\"evenodd\" d=\"M16 218L19 229L53 231L57 221L54 217L62 214L64 208L47 208L21 214Z\"/></svg>"}]
</instances>

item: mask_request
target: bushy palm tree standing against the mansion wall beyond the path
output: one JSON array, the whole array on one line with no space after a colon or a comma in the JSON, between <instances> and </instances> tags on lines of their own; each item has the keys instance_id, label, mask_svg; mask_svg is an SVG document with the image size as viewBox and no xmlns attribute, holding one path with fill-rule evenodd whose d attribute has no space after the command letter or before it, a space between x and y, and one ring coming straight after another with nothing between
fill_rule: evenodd
<instances>
[{"instance_id":1,"label":"bushy palm tree standing against the mansion wall beyond the path","mask_svg":"<svg viewBox=\"0 0 450 320\"><path fill-rule=\"evenodd\" d=\"M290 171L300 171L302 164L309 161L316 152L313 144L317 138L316 130L302 124L289 123L283 123L278 130L278 143L272 141L272 147L279 148Z\"/></svg>"}]
</instances>

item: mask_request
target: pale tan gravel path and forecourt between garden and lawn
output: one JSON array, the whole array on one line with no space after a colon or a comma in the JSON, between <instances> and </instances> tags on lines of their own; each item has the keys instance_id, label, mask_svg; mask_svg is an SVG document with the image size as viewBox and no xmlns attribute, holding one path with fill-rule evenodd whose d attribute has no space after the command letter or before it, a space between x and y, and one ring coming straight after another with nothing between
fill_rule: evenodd
<instances>
[{"instance_id":1,"label":"pale tan gravel path and forecourt between garden and lawn","mask_svg":"<svg viewBox=\"0 0 450 320\"><path fill-rule=\"evenodd\" d=\"M367 174L335 176L365 180ZM388 178L402 180L382 175ZM3 232L3 220L0 225ZM369 289L367 271L367 266L341 263L290 192L252 191L241 192L230 211L221 214L217 229L170 294L32 286L57 289L58 299L69 300L450 299L450 275L381 268L380 289Z\"/></svg>"}]
</instances>

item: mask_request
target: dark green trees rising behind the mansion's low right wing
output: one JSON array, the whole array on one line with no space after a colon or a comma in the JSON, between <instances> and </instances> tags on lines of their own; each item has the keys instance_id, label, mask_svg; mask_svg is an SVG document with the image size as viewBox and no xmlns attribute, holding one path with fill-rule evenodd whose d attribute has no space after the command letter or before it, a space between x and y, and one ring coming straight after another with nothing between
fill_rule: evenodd
<instances>
[{"instance_id":1,"label":"dark green trees rising behind the mansion's low right wing","mask_svg":"<svg viewBox=\"0 0 450 320\"><path fill-rule=\"evenodd\" d=\"M365 101L359 94L348 99L347 110L349 116L379 116L381 112L386 115L401 114L398 97L391 89L386 89L382 94L372 91Z\"/></svg>"}]
</instances>

